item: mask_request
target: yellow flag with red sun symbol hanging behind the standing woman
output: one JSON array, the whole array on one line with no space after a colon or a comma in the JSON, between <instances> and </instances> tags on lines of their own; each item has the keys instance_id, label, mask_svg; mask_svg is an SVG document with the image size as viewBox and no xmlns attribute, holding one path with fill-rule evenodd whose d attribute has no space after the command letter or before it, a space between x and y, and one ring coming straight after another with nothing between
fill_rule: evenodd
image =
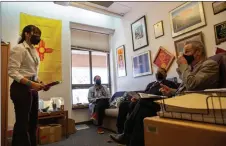
<instances>
[{"instance_id":1,"label":"yellow flag with red sun symbol hanging behind the standing woman","mask_svg":"<svg viewBox=\"0 0 226 146\"><path fill-rule=\"evenodd\" d=\"M42 31L41 41L35 46L40 57L40 80L45 83L62 81L61 21L20 13L20 34L30 24Z\"/></svg>"}]
</instances>

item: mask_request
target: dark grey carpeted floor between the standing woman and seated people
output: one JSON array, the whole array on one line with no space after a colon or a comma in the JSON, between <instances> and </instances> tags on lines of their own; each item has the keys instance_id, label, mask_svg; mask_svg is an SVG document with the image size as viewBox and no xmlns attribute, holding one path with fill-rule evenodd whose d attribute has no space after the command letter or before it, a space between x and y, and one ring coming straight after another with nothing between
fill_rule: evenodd
<instances>
[{"instance_id":1,"label":"dark grey carpeted floor between the standing woman and seated people","mask_svg":"<svg viewBox=\"0 0 226 146\"><path fill-rule=\"evenodd\" d=\"M111 132L104 130L105 133L100 135L97 134L95 126L89 125L89 127L77 131L75 134L70 135L68 139L42 146L118 146L114 142L108 143Z\"/></svg>"}]
</instances>

